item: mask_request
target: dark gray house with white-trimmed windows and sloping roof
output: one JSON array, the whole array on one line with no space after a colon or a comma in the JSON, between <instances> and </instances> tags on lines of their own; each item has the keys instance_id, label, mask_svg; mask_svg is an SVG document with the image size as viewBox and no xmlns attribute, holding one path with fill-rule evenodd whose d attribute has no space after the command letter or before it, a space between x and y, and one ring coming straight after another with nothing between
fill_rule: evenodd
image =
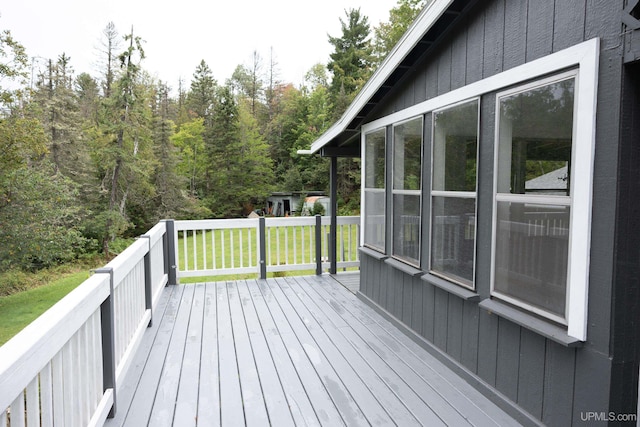
<instances>
[{"instance_id":1,"label":"dark gray house with white-trimmed windows and sloping roof","mask_svg":"<svg viewBox=\"0 0 640 427\"><path fill-rule=\"evenodd\" d=\"M307 151L362 158L360 298L524 424L637 415L638 3L435 0Z\"/></svg>"}]
</instances>

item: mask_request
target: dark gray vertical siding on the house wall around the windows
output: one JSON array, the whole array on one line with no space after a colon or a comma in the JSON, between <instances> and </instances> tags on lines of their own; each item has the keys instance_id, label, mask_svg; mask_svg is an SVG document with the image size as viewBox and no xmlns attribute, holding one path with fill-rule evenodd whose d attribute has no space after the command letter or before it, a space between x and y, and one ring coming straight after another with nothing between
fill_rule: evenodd
<instances>
[{"instance_id":1,"label":"dark gray vertical siding on the house wall around the windows","mask_svg":"<svg viewBox=\"0 0 640 427\"><path fill-rule=\"evenodd\" d=\"M640 149L637 143L633 147L629 142L622 147L626 151L621 151L619 145L624 49L621 9L622 2L613 0L478 2L371 116L372 120L386 116L584 40L601 39L589 327L588 340L582 347L564 347L479 308L477 302L465 301L419 277L406 275L384 260L362 256L361 283L365 285L361 292L367 298L413 330L426 346L444 352L452 364L479 379L480 388L486 384L490 392L494 387L509 401L507 404L515 404L547 425L582 424L581 413L586 411L635 413L640 340L640 239L635 218L640 217L640 203L628 205L620 201L637 200ZM631 71L640 74L637 66L627 71L627 75ZM640 134L639 80L634 77L629 83L636 95L625 104L629 116L626 136L623 135L626 141L638 141ZM484 95L476 237L476 292L480 299L490 295L494 110L495 94ZM428 146L430 114L425 119ZM426 149L425 165L430 164L429 155ZM621 171L619 156L626 158ZM619 174L634 182L620 198ZM429 179L426 171L423 188L430 188ZM427 225L428 215L424 213L429 212L428 190L423 194L423 224ZM624 211L617 212L616 207ZM627 221L617 233L616 219ZM429 231L428 227L423 228L422 261L426 266ZM619 249L627 254L622 258L616 258L620 255L616 253L616 236L620 239ZM390 235L387 237L389 240ZM614 292L620 301L628 299L618 302L620 308ZM627 326L626 332L614 333L615 322L632 326ZM633 340L633 344L625 347L627 340ZM630 382L634 375L635 380Z\"/></svg>"}]
</instances>

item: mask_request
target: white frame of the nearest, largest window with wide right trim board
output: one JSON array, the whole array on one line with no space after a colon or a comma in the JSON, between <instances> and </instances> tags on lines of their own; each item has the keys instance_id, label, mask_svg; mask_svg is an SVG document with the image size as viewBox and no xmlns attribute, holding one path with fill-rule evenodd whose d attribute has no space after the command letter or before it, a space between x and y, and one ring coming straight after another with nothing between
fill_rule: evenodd
<instances>
[{"instance_id":1,"label":"white frame of the nearest, largest window with wide right trim board","mask_svg":"<svg viewBox=\"0 0 640 427\"><path fill-rule=\"evenodd\" d=\"M596 46L597 47L597 44ZM590 61L578 64L575 70L541 78L535 82L507 90L496 95L496 146L494 153L494 202L493 202L493 236L491 249L491 293L514 305L523 307L543 317L567 326L567 335L580 341L587 338L587 300L589 287L589 253L591 242L591 200L593 186L593 153L595 147L595 106L597 91L598 50L591 52ZM499 108L500 99L522 93L536 87L552 84L557 81L575 79L574 90L574 123L573 147L571 150L571 168L573 179L570 180L569 196L520 195L498 193L498 141L499 141ZM495 285L495 247L497 230L497 203L507 202L539 202L540 204L570 206L569 213L569 261L567 266L567 290L565 317L551 314L545 310L532 307L516 298L503 295L494 290Z\"/></svg>"}]
</instances>

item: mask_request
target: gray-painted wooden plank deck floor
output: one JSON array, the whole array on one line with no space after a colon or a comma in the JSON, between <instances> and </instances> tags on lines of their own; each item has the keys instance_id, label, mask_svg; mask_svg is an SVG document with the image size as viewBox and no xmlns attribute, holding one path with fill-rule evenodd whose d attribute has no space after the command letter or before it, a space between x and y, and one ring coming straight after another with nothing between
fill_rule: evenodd
<instances>
[{"instance_id":1,"label":"gray-painted wooden plank deck floor","mask_svg":"<svg viewBox=\"0 0 640 427\"><path fill-rule=\"evenodd\" d=\"M518 425L331 276L161 301L108 427Z\"/></svg>"}]
</instances>

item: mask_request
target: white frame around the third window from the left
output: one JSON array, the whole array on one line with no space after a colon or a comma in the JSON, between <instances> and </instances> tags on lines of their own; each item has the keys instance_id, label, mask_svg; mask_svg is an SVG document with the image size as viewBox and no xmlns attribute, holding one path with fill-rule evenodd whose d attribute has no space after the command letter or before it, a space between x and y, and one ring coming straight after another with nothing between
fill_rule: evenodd
<instances>
[{"instance_id":1,"label":"white frame around the third window from the left","mask_svg":"<svg viewBox=\"0 0 640 427\"><path fill-rule=\"evenodd\" d=\"M434 147L435 147L435 133L436 133L436 126L435 126L435 115L437 113L443 112L443 111L447 111L450 110L452 108L456 108L465 104L469 104L472 102L477 102L477 115L478 115L478 121L477 121L477 126L476 126L476 181L475 181L475 191L447 191L447 190L434 190L433 189L433 182L434 182L434 173L435 173L435 168L434 168ZM427 264L428 264L428 271L430 274L433 274L434 276L438 276L448 282L454 283L456 285L462 286L466 289L470 289L472 291L475 291L476 288L476 254L477 254L477 247L476 247L476 242L477 242L477 236L478 236L478 160L480 159L480 110L481 110L481 97L480 96L474 96L471 98L467 98L467 99L463 99L459 102L453 103L453 104L449 104L449 105L445 105L441 108L437 108L432 110L431 113L431 165L430 165L430 176L431 176L431 182L430 182L430 188L429 188L429 259L427 260ZM432 266L432 256L433 256L433 199L434 197L446 197L446 198L456 198L456 199L474 199L474 205L475 205L475 209L474 209L474 227L473 227L473 272L472 272L472 277L471 277L471 284L468 285L466 283L463 283L459 280L456 280L455 278L447 275L446 273L442 273L439 271L436 271L433 269Z\"/></svg>"}]
</instances>

